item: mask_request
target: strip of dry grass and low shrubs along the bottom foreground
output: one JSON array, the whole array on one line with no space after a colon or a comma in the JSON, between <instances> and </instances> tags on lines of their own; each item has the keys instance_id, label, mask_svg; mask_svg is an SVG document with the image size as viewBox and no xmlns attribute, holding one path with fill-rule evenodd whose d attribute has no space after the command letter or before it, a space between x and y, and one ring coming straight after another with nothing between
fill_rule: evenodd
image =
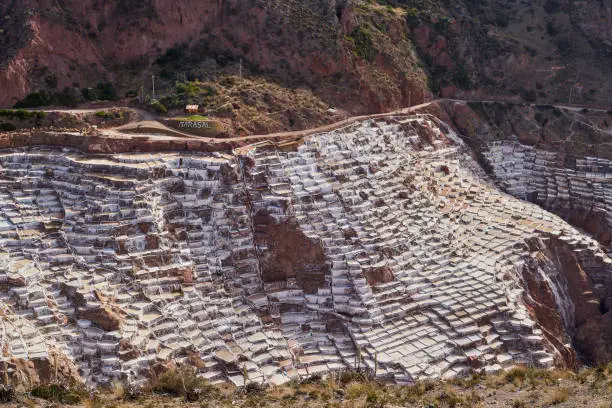
<instances>
[{"instance_id":1,"label":"strip of dry grass and low shrubs along the bottom foreground","mask_svg":"<svg viewBox=\"0 0 612 408\"><path fill-rule=\"evenodd\" d=\"M57 385L15 393L5 406L173 407L589 407L612 408L612 364L579 372L518 367L495 375L397 386L356 372L279 387L213 386L188 369L135 391L120 383L87 392ZM1 393L0 393L1 394ZM7 395L0 395L0 399Z\"/></svg>"}]
</instances>

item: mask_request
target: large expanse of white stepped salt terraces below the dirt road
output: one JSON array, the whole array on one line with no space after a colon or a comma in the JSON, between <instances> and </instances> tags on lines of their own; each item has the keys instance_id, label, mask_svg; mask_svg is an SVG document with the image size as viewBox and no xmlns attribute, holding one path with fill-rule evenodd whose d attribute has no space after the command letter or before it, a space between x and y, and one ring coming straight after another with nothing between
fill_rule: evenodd
<instances>
[{"instance_id":1,"label":"large expanse of white stepped salt terraces below the dirt road","mask_svg":"<svg viewBox=\"0 0 612 408\"><path fill-rule=\"evenodd\" d=\"M430 116L234 154L5 150L0 202L2 359L58 350L89 384L143 384L168 360L237 385L550 367L522 301L526 240L611 264Z\"/></svg>"}]
</instances>

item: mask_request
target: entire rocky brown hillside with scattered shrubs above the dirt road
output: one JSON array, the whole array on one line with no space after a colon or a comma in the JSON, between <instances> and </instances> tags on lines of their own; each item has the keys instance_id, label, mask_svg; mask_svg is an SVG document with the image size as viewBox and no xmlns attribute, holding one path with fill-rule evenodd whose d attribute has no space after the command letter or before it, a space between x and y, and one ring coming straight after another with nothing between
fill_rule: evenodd
<instances>
[{"instance_id":1,"label":"entire rocky brown hillside with scattered shrubs above the dirt road","mask_svg":"<svg viewBox=\"0 0 612 408\"><path fill-rule=\"evenodd\" d=\"M152 96L151 75L165 108L200 103L247 132L436 95L606 104L612 10L583 3L4 0L0 104Z\"/></svg>"}]
</instances>

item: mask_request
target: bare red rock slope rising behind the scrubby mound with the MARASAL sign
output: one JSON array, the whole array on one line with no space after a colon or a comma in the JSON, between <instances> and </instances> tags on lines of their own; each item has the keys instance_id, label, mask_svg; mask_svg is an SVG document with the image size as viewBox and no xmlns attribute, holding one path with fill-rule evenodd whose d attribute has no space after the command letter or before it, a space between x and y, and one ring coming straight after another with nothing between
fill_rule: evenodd
<instances>
[{"instance_id":1,"label":"bare red rock slope rising behind the scrubby mound with the MARASAL sign","mask_svg":"<svg viewBox=\"0 0 612 408\"><path fill-rule=\"evenodd\" d=\"M412 62L405 58L385 54L366 64L355 56L346 37L363 22L350 5L337 9L339 2L330 2L323 10L297 1L275 5L254 0L66 0L61 7L52 1L39 3L26 0L16 6L16 13L28 8L38 12L25 23L29 39L6 61L6 68L0 68L0 106L43 89L50 74L57 77L58 90L102 81L135 89L129 67L146 72L160 55L179 44L206 44L272 72L281 81L299 78L318 88L316 93L330 104L359 113L417 104L428 95L424 81L405 75L414 74ZM304 19L311 21L296 26ZM405 37L402 19L390 22L389 30L392 38ZM383 73L392 81L377 85Z\"/></svg>"}]
</instances>

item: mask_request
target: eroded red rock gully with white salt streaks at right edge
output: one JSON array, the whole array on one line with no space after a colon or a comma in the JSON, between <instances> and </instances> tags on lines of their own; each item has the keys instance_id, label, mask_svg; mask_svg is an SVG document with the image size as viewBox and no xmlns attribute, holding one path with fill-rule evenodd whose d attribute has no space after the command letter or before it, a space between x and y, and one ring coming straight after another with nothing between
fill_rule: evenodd
<instances>
[{"instance_id":1,"label":"eroded red rock gully with white salt streaks at right edge","mask_svg":"<svg viewBox=\"0 0 612 408\"><path fill-rule=\"evenodd\" d=\"M594 284L605 267L596 260L579 259L568 244L553 237L530 240L528 246L532 257L523 268L524 300L566 365L575 364L564 345L569 341L591 363L611 361L612 312L606 311L605 302L612 288L608 283L597 294ZM550 271L558 274L544 279L542 274Z\"/></svg>"}]
</instances>

